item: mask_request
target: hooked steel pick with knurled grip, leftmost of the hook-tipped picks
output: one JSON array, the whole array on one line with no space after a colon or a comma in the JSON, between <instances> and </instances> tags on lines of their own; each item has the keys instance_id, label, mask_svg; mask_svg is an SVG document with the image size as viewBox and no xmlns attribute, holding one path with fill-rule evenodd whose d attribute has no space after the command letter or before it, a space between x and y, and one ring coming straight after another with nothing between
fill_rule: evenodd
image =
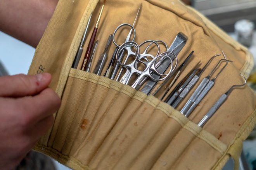
<instances>
[{"instance_id":1,"label":"hooked steel pick with knurled grip, leftmost of the hook-tipped picks","mask_svg":"<svg viewBox=\"0 0 256 170\"><path fill-rule=\"evenodd\" d=\"M177 107L177 105L182 101L182 99L184 99L184 97L187 95L187 93L189 93L189 91L191 90L192 87L194 87L195 83L198 81L199 77L201 76L202 72L205 70L205 68L209 65L209 63L212 61L212 59L216 56L220 56L220 54L216 54L214 56L212 56L209 61L206 63L206 65L204 65L204 67L202 68L201 71L199 71L199 73L197 75L195 75L192 80L190 80L190 82L187 84L187 86L182 90L182 92L180 93L180 95L176 98L175 102L173 102L173 104L171 106L173 106L174 108Z\"/></svg>"}]
</instances>

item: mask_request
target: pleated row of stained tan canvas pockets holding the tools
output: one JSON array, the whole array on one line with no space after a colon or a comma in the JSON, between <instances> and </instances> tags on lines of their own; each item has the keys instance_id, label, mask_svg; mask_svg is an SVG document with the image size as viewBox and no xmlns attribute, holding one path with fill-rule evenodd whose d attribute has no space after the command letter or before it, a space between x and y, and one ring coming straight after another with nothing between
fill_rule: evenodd
<instances>
[{"instance_id":1,"label":"pleated row of stained tan canvas pockets holding the tools","mask_svg":"<svg viewBox=\"0 0 256 170\"><path fill-rule=\"evenodd\" d=\"M71 69L62 102L48 147L93 169L184 167L190 154L207 169L227 149L155 97L85 71Z\"/></svg>"}]
</instances>

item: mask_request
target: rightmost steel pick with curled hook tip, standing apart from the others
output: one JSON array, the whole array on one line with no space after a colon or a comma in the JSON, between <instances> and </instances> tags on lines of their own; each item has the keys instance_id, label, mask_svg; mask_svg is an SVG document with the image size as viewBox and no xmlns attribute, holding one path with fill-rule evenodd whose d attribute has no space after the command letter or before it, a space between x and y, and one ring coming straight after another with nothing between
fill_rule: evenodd
<instances>
[{"instance_id":1,"label":"rightmost steel pick with curled hook tip, standing apart from the others","mask_svg":"<svg viewBox=\"0 0 256 170\"><path fill-rule=\"evenodd\" d=\"M244 83L242 85L233 85L230 89L221 95L221 97L216 101L216 103L211 107L211 109L206 113L202 120L197 124L199 127L204 126L204 124L213 116L213 114L220 108L220 106L227 100L228 95L233 90L234 87L241 87L246 84L246 77L240 73L244 78Z\"/></svg>"}]
</instances>

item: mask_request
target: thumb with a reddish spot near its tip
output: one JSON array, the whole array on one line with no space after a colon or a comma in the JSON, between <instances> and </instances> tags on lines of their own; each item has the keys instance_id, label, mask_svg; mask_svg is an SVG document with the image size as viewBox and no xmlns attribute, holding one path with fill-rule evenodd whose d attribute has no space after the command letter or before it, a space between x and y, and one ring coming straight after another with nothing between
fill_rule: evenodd
<instances>
[{"instance_id":1,"label":"thumb with a reddish spot near its tip","mask_svg":"<svg viewBox=\"0 0 256 170\"><path fill-rule=\"evenodd\" d=\"M51 79L49 73L0 77L0 96L23 97L35 95L47 88Z\"/></svg>"}]
</instances>

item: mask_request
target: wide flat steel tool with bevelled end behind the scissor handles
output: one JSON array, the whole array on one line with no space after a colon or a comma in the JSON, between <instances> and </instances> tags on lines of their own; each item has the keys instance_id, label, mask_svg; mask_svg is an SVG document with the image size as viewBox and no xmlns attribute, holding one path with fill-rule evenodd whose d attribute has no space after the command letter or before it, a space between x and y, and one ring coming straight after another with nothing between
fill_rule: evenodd
<instances>
[{"instance_id":1,"label":"wide flat steel tool with bevelled end behind the scissor handles","mask_svg":"<svg viewBox=\"0 0 256 170\"><path fill-rule=\"evenodd\" d=\"M175 55L178 55L178 53L181 51L183 46L185 46L186 41L187 41L187 36L182 32L179 32L175 37L173 43L171 44L170 48L168 49L168 51L173 52ZM159 73L163 74L170 64L171 64L170 59L165 59L163 63L161 63L161 65L157 67L156 70ZM159 75L154 73L152 74L152 76L156 79L160 77ZM147 83L144 85L144 87L142 88L141 92L149 95L152 89L155 87L156 83L157 83L156 81L149 79Z\"/></svg>"}]
</instances>

